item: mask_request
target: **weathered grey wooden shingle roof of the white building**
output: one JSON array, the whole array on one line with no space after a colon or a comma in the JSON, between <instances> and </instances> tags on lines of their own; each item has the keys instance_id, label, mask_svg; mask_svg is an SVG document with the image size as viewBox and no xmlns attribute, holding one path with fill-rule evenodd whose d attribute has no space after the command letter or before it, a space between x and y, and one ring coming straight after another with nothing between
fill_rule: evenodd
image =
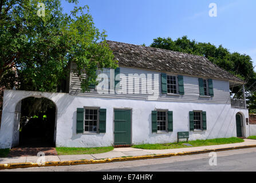
<instances>
[{"instance_id":1,"label":"weathered grey wooden shingle roof of the white building","mask_svg":"<svg viewBox=\"0 0 256 183\"><path fill-rule=\"evenodd\" d=\"M234 85L244 82L210 62L206 57L115 41L107 41L107 43L115 59L119 61L119 66L225 79L230 83L234 82Z\"/></svg>"}]
</instances>

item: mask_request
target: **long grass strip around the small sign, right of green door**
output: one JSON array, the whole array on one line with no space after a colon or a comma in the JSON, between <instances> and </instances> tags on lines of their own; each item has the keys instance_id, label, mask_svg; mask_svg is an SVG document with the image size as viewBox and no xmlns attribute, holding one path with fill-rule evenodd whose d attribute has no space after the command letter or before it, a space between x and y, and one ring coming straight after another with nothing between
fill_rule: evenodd
<instances>
[{"instance_id":1,"label":"long grass strip around the small sign, right of green door","mask_svg":"<svg viewBox=\"0 0 256 183\"><path fill-rule=\"evenodd\" d=\"M207 146L207 145L219 145L219 144L232 144L243 142L241 138L231 137L231 138L215 138L208 140L196 140L196 141L188 141L188 142L179 142L179 143L167 143L167 144L141 144L141 145L133 145L132 148L139 149L176 149L176 148L189 148L196 146ZM184 143L191 144L192 146L183 145Z\"/></svg>"}]
</instances>

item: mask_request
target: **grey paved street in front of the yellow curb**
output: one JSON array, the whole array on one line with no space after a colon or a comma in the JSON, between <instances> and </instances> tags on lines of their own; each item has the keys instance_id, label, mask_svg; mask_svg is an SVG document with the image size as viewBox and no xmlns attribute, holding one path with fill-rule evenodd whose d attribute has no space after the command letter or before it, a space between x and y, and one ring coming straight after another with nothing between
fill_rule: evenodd
<instances>
[{"instance_id":1,"label":"grey paved street in front of the yellow curb","mask_svg":"<svg viewBox=\"0 0 256 183\"><path fill-rule=\"evenodd\" d=\"M216 166L209 165L210 158L207 153L152 160L111 162L107 164L50 166L2 171L256 171L256 148L217 152Z\"/></svg>"}]
</instances>

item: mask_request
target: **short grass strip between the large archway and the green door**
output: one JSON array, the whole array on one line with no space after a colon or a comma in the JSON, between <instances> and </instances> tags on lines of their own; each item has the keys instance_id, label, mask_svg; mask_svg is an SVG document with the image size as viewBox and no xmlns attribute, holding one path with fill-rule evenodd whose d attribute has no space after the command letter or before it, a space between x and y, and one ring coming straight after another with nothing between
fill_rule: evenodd
<instances>
[{"instance_id":1,"label":"short grass strip between the large archway and the green door","mask_svg":"<svg viewBox=\"0 0 256 183\"><path fill-rule=\"evenodd\" d=\"M101 148L56 148L58 155L70 155L70 154L97 154L105 153L113 150L112 146Z\"/></svg>"}]
</instances>

